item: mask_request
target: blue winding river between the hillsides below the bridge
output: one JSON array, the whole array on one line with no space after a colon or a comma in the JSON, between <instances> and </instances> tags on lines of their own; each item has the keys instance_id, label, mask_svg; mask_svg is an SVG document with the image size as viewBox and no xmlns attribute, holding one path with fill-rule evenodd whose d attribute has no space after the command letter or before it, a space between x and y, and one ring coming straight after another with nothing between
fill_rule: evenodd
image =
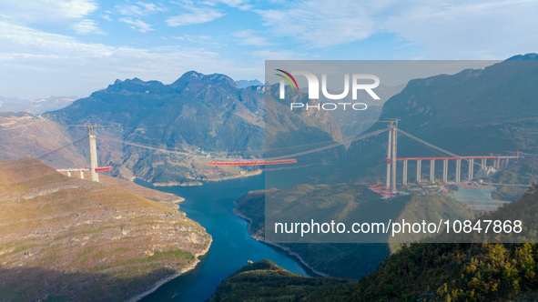
<instances>
[{"instance_id":1,"label":"blue winding river between the hillsides below the bridge","mask_svg":"<svg viewBox=\"0 0 538 302\"><path fill-rule=\"evenodd\" d=\"M213 237L208 254L200 258L195 269L167 282L142 301L205 301L222 280L246 266L248 260L269 259L292 273L309 276L288 254L252 239L248 222L232 212L235 200L249 191L264 188L264 179L261 174L204 186L159 187L136 181L138 185L184 197L180 210Z\"/></svg>"}]
</instances>

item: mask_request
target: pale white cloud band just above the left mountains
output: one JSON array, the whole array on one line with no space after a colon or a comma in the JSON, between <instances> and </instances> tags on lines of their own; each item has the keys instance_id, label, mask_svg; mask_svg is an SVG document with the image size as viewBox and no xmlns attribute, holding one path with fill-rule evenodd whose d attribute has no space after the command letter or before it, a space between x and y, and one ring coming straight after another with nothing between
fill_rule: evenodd
<instances>
[{"instance_id":1,"label":"pale white cloud band just above the left mountains","mask_svg":"<svg viewBox=\"0 0 538 302\"><path fill-rule=\"evenodd\" d=\"M0 91L4 96L89 96L115 79L171 83L188 70L259 76L259 70L200 47L116 47L82 43L0 20Z\"/></svg>"}]
</instances>

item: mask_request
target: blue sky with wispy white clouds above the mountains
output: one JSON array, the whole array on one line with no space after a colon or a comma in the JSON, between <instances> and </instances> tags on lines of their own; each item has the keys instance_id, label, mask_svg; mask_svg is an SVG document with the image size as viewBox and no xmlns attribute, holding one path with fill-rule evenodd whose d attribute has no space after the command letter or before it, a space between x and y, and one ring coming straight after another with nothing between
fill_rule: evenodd
<instances>
[{"instance_id":1,"label":"blue sky with wispy white clouds above the mountains","mask_svg":"<svg viewBox=\"0 0 538 302\"><path fill-rule=\"evenodd\" d=\"M0 0L0 96L89 96L189 70L263 81L269 59L538 52L537 1Z\"/></svg>"}]
</instances>

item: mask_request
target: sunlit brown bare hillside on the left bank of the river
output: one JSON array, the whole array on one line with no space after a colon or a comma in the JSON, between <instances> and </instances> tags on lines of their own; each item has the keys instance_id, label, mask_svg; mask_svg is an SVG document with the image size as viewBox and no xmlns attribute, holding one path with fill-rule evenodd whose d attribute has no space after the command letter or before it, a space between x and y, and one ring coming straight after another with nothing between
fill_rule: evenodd
<instances>
[{"instance_id":1,"label":"sunlit brown bare hillside on the left bank of the river","mask_svg":"<svg viewBox=\"0 0 538 302\"><path fill-rule=\"evenodd\" d=\"M36 159L0 161L0 300L125 300L198 262L211 237L177 196Z\"/></svg>"}]
</instances>

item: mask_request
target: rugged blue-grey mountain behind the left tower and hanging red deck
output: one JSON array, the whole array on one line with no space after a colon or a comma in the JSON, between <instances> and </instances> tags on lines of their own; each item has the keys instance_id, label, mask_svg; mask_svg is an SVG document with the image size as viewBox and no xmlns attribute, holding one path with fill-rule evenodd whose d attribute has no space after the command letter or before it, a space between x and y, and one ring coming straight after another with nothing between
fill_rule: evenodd
<instances>
[{"instance_id":1,"label":"rugged blue-grey mountain behind the left tower and hanging red deck","mask_svg":"<svg viewBox=\"0 0 538 302\"><path fill-rule=\"evenodd\" d=\"M265 129L264 92L263 86L239 88L228 76L191 71L170 85L137 78L117 80L71 106L47 113L46 117L64 126L89 123L107 126L98 129L99 161L114 166L116 175L188 185L249 173L251 168L208 166L208 162L210 157L219 156L260 158L265 139L279 140L277 136L282 131ZM304 94L297 97L306 101ZM277 104L274 99L269 103ZM309 133L309 143L341 140L339 126L328 112L295 114L289 113L287 106L277 106L276 110L269 116L287 115L277 123L283 132L294 129L294 137ZM85 131L69 128L72 137L83 136ZM123 146L121 142L167 148L193 156Z\"/></svg>"}]
</instances>

